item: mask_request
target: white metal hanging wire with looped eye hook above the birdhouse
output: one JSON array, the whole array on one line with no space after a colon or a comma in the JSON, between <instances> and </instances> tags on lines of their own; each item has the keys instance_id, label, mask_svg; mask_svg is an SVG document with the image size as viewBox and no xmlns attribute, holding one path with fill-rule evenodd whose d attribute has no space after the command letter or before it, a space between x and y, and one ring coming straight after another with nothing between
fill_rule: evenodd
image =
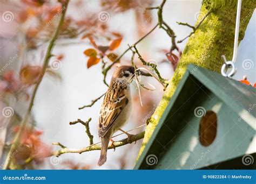
<instances>
[{"instance_id":1,"label":"white metal hanging wire with looped eye hook above the birdhouse","mask_svg":"<svg viewBox=\"0 0 256 184\"><path fill-rule=\"evenodd\" d=\"M226 61L225 55L221 55L223 57L224 62L225 62L224 65L221 67L221 74L225 77L231 77L235 74L234 62L237 60L241 5L242 5L242 0L238 0L238 3L237 3L237 19L235 20L235 37L234 37L234 48L233 48L232 61ZM226 73L227 68L231 68L231 72L228 73L228 74Z\"/></svg>"}]
</instances>

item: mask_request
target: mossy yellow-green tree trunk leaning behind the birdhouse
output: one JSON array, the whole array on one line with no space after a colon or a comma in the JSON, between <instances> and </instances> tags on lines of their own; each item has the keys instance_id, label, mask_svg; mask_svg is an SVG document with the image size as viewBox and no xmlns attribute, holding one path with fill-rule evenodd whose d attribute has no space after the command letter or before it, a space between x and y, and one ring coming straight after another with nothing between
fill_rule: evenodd
<instances>
[{"instance_id":1,"label":"mossy yellow-green tree trunk leaning behind the birdhouse","mask_svg":"<svg viewBox=\"0 0 256 184\"><path fill-rule=\"evenodd\" d=\"M239 41L244 38L247 24L252 17L255 6L255 0L242 1ZM203 1L197 24L209 10L212 10L210 15L208 15L188 40L177 69L174 72L163 98L159 102L152 117L148 119L149 124L146 127L145 137L138 158L142 154L159 119L163 115L163 112L176 90L179 81L183 77L188 64L194 63L200 67L220 72L220 68L223 65L221 55L225 54L227 60L232 59L237 1Z\"/></svg>"}]
</instances>

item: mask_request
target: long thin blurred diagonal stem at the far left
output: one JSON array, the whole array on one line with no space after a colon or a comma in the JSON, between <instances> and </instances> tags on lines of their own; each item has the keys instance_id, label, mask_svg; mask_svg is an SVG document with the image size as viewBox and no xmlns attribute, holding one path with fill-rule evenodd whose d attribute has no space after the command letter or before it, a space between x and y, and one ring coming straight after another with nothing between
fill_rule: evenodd
<instances>
[{"instance_id":1,"label":"long thin blurred diagonal stem at the far left","mask_svg":"<svg viewBox=\"0 0 256 184\"><path fill-rule=\"evenodd\" d=\"M31 114L31 110L32 110L33 103L34 103L34 100L35 100L35 97L36 97L37 89L38 89L39 84L41 83L41 81L43 79L43 76L45 74L46 68L49 65L49 60L50 60L51 55L52 55L51 52L52 52L53 45L55 44L55 41L56 41L56 39L57 39L57 37L59 35L60 27L62 27L62 25L63 25L66 9L68 8L68 3L69 3L69 0L66 0L63 3L63 5L62 5L62 8L63 8L62 16L60 17L60 20L59 20L58 26L56 28L56 31L53 34L53 37L50 40L49 46L47 48L47 51L46 51L46 54L45 54L45 58L44 58L44 62L43 62L43 67L42 67L41 75L39 75L39 79L36 82L35 87L33 88L32 95L31 95L31 100L30 100L30 103L29 103L29 108L26 111L26 114L25 114L24 118L22 119L22 122L21 122L21 124L19 126L18 132L16 133L16 136L15 136L15 139L14 139L14 143L12 144L12 146L10 148L10 151L8 152L8 155L7 155L6 160L4 162L5 164L3 166L3 169L8 169L9 168L9 166L11 164L11 160L12 160L11 159L12 158L12 153L14 153L14 151L17 150L17 148L18 148L18 146L20 144L22 133L23 133L23 131L25 129L26 123L28 122L28 119L29 119L30 114Z\"/></svg>"}]
</instances>

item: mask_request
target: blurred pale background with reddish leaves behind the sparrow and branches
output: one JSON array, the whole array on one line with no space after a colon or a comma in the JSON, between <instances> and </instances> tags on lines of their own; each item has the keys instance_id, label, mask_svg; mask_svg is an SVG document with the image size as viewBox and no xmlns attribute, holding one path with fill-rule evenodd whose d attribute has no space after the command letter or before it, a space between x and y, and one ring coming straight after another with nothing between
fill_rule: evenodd
<instances>
[{"instance_id":1,"label":"blurred pale background with reddish leaves behind the sparrow and branches","mask_svg":"<svg viewBox=\"0 0 256 184\"><path fill-rule=\"evenodd\" d=\"M90 122L94 142L98 138L98 115L103 98L92 107L78 110L83 105L105 93L107 86L103 83L102 61L88 66L88 56L84 51L93 48L88 38L93 38L97 45L105 46L111 41L122 38L116 55L122 54L139 38L143 37L157 24L157 10L145 11L145 8L158 6L161 1L79 1L69 3L62 27L62 32L53 48L50 67L37 91L32 109L30 124L22 137L26 144L15 155L25 168L32 169L132 169L142 144L117 147L116 151L107 152L107 161L102 167L97 166L99 151L82 154L65 153L60 157L49 157L49 153L59 146L51 145L59 141L69 148L82 148L89 145L89 138L81 124L69 125L78 118ZM167 1L163 9L165 22L176 33L176 40L185 38L192 31L187 26L176 22L195 25L199 15L201 1ZM59 21L61 5L58 1L14 0L0 1L0 110L10 109L10 115L0 116L0 156L4 162L6 151L10 147L20 119L28 108L33 84L40 67L49 40ZM252 10L253 12L254 10ZM188 39L177 44L183 51ZM244 75L252 84L256 81L256 16L255 11L247 26L244 39L238 50L237 73L234 79L241 80ZM170 59L166 53L171 47L170 37L165 31L156 29L137 48L146 61L157 63L161 75L171 79L180 57ZM221 49L221 48L220 48ZM223 53L225 54L225 53ZM127 52L107 74L109 83L116 66L129 65L132 52ZM221 58L220 58L221 60ZM111 60L104 60L106 65ZM139 65L136 56L134 61ZM89 68L88 68L89 67ZM140 105L136 83L132 84L133 112L130 121L123 130L130 130L143 125L156 109L163 95L163 87L151 77L143 77L142 83L150 83L156 90L140 89L143 107ZM145 129L131 131L136 134ZM120 132L117 132L120 133ZM116 133L116 134L117 134ZM114 140L126 138L118 136ZM36 159L29 164L25 160L31 154ZM46 157L46 158L45 158Z\"/></svg>"}]
</instances>

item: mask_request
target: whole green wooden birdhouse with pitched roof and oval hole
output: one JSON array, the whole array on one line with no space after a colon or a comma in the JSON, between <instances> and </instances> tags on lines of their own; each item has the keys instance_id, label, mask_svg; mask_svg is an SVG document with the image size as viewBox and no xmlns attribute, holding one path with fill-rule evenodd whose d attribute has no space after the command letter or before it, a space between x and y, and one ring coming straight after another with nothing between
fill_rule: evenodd
<instances>
[{"instance_id":1,"label":"whole green wooden birdhouse with pitched roof and oval hole","mask_svg":"<svg viewBox=\"0 0 256 184\"><path fill-rule=\"evenodd\" d=\"M255 94L188 66L134 169L255 169Z\"/></svg>"}]
</instances>

